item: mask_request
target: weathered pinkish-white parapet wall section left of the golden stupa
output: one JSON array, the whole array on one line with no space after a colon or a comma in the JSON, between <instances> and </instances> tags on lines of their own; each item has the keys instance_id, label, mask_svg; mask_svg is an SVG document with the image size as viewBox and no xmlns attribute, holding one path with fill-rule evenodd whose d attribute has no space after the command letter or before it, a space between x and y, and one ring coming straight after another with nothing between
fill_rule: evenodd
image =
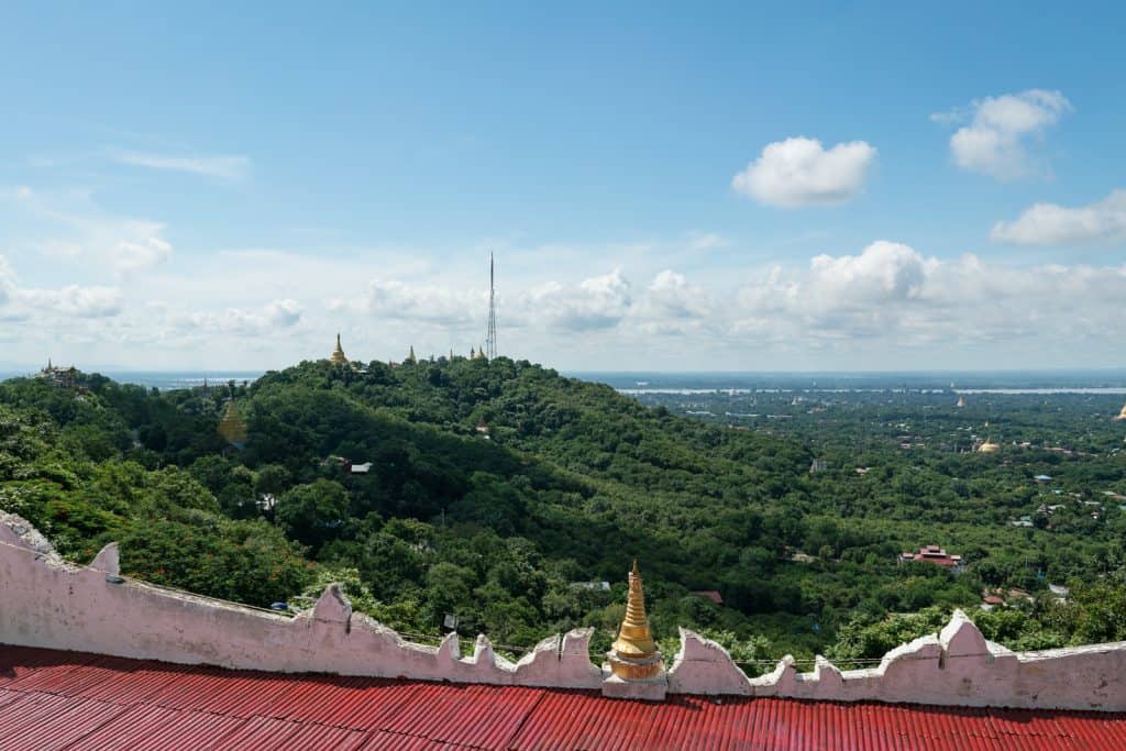
<instances>
[{"instance_id":1,"label":"weathered pinkish-white parapet wall section left of the golden stupa","mask_svg":"<svg viewBox=\"0 0 1126 751\"><path fill-rule=\"evenodd\" d=\"M64 562L27 521L0 513L0 644L282 672L404 677L597 689L591 631L547 640L513 664L488 640L423 646L363 614L336 584L291 618L117 575L116 546L90 566Z\"/></svg>"}]
</instances>

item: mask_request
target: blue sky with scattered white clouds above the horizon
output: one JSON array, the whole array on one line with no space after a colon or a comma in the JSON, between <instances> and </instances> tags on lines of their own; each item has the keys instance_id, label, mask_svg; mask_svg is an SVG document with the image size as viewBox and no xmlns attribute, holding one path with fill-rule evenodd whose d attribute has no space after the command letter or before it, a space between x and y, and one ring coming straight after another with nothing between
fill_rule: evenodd
<instances>
[{"instance_id":1,"label":"blue sky with scattered white clouds above the horizon","mask_svg":"<svg viewBox=\"0 0 1126 751\"><path fill-rule=\"evenodd\" d=\"M1108 367L1120 7L0 9L0 364Z\"/></svg>"}]
</instances>

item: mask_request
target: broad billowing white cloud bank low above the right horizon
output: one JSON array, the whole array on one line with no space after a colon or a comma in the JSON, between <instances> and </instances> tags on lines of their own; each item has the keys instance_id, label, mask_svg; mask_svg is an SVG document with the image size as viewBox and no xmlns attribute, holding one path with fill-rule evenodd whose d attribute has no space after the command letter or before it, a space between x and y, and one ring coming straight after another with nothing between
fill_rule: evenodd
<instances>
[{"instance_id":1,"label":"broad billowing white cloud bank low above the right horizon","mask_svg":"<svg viewBox=\"0 0 1126 751\"><path fill-rule=\"evenodd\" d=\"M768 269L740 290L731 324L808 342L1061 342L1120 330L1111 299L1126 299L1126 267L1008 267L877 241L804 270Z\"/></svg>"}]
</instances>

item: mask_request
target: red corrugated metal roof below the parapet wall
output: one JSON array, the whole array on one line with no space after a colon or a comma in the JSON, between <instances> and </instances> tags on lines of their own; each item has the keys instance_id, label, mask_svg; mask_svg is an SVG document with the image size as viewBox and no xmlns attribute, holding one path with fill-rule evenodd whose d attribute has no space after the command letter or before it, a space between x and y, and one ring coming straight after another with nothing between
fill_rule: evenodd
<instances>
[{"instance_id":1,"label":"red corrugated metal roof below the parapet wall","mask_svg":"<svg viewBox=\"0 0 1126 751\"><path fill-rule=\"evenodd\" d=\"M1126 749L1126 714L286 676L0 646L0 750Z\"/></svg>"}]
</instances>

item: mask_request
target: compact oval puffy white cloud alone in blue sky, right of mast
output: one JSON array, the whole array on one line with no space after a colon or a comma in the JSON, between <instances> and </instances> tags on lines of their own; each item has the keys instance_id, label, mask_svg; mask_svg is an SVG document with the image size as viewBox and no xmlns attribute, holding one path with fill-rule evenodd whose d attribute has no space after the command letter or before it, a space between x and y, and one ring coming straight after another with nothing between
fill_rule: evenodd
<instances>
[{"instance_id":1,"label":"compact oval puffy white cloud alone in blue sky, right of mast","mask_svg":"<svg viewBox=\"0 0 1126 751\"><path fill-rule=\"evenodd\" d=\"M876 149L864 141L825 150L813 138L786 138L768 144L731 185L770 206L840 204L860 191L875 158Z\"/></svg>"}]
</instances>

